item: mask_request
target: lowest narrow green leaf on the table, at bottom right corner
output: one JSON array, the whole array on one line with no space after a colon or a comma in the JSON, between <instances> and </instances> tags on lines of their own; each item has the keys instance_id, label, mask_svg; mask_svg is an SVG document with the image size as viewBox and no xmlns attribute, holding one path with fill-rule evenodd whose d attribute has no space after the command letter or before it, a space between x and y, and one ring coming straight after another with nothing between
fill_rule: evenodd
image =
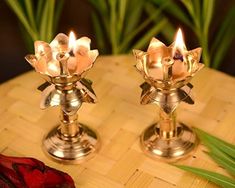
<instances>
[{"instance_id":1,"label":"lowest narrow green leaf on the table, at bottom right corner","mask_svg":"<svg viewBox=\"0 0 235 188\"><path fill-rule=\"evenodd\" d=\"M224 175L221 175L215 172L210 172L208 170L194 168L194 167L188 167L188 166L183 166L183 165L175 165L175 166L182 170L201 176L202 178L205 178L211 182L214 182L220 185L221 187L224 187L224 188L235 187L235 180L229 177L226 177Z\"/></svg>"}]
</instances>

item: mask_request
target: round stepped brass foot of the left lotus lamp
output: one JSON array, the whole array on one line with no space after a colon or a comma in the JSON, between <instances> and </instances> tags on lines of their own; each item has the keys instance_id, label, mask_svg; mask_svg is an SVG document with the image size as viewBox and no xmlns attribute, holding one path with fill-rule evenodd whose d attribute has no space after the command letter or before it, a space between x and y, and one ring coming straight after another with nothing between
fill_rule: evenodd
<instances>
[{"instance_id":1,"label":"round stepped brass foot of the left lotus lamp","mask_svg":"<svg viewBox=\"0 0 235 188\"><path fill-rule=\"evenodd\" d=\"M79 124L79 134L68 139L52 129L43 140L43 150L56 160L66 164L77 164L90 159L100 147L98 135L89 127Z\"/></svg>"}]
</instances>

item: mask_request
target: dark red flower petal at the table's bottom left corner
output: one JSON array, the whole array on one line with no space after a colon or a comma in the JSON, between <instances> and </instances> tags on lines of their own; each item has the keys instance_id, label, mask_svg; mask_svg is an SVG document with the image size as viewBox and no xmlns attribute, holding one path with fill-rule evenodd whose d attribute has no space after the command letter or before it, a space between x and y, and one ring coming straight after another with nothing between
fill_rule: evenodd
<instances>
[{"instance_id":1,"label":"dark red flower petal at the table's bottom left corner","mask_svg":"<svg viewBox=\"0 0 235 188\"><path fill-rule=\"evenodd\" d=\"M68 174L50 168L37 159L0 154L0 187L75 188L75 185Z\"/></svg>"}]
</instances>

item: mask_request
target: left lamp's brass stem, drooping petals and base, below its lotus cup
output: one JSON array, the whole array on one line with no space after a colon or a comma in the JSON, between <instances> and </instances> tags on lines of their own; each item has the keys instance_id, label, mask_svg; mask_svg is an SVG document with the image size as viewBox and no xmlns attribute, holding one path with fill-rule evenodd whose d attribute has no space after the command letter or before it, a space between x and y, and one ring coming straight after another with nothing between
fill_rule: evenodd
<instances>
[{"instance_id":1,"label":"left lamp's brass stem, drooping petals and base, below its lotus cup","mask_svg":"<svg viewBox=\"0 0 235 188\"><path fill-rule=\"evenodd\" d=\"M45 153L54 160L81 163L94 156L100 147L98 135L78 122L77 111L82 103L94 102L91 99L95 93L87 82L90 81L80 81L77 76L60 76L51 79L52 89L44 90L45 107L61 106L60 126L52 129L43 140Z\"/></svg>"}]
</instances>

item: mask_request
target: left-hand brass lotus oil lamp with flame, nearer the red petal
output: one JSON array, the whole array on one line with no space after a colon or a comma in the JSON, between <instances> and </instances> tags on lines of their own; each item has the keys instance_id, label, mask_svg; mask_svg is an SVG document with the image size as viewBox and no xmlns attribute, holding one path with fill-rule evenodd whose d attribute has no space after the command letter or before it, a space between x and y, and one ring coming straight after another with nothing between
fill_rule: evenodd
<instances>
[{"instance_id":1,"label":"left-hand brass lotus oil lamp with flame, nearer the red petal","mask_svg":"<svg viewBox=\"0 0 235 188\"><path fill-rule=\"evenodd\" d=\"M82 77L98 56L90 50L90 39L75 39L58 34L50 43L35 42L35 55L26 60L43 75L47 82L42 90L42 109L60 106L60 125L52 129L43 140L43 150L51 158L64 163L80 163L99 149L98 135L78 121L77 111L83 102L95 103L92 82Z\"/></svg>"}]
</instances>

